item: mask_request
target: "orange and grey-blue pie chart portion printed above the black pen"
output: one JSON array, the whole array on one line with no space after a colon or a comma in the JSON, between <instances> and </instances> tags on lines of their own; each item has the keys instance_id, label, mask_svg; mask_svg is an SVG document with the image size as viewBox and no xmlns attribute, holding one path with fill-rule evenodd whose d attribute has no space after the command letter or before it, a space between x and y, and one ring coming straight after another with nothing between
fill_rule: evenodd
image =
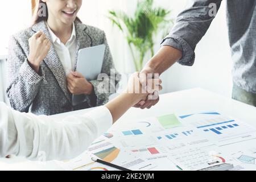
<instances>
[{"instance_id":1,"label":"orange and grey-blue pie chart portion printed above the black pen","mask_svg":"<svg viewBox=\"0 0 256 182\"><path fill-rule=\"evenodd\" d=\"M95 153L98 158L105 160L106 162L113 162L119 154L120 150L116 147L111 147L106 150Z\"/></svg>"}]
</instances>

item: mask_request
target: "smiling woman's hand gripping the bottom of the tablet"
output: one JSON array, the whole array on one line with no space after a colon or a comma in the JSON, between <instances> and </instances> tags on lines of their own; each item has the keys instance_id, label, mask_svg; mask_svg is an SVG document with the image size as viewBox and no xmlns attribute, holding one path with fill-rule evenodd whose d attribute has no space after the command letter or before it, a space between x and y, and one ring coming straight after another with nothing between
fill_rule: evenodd
<instances>
[{"instance_id":1,"label":"smiling woman's hand gripping the bottom of the tablet","mask_svg":"<svg viewBox=\"0 0 256 182\"><path fill-rule=\"evenodd\" d=\"M86 94L93 92L93 85L82 76L81 73L71 72L67 77L68 90L74 95Z\"/></svg>"}]
</instances>

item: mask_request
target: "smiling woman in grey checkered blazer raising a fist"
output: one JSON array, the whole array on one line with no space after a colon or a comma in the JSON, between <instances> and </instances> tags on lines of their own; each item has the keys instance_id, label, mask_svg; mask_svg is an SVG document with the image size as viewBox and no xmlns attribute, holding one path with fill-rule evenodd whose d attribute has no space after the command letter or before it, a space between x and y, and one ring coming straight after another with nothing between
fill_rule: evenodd
<instances>
[{"instance_id":1,"label":"smiling woman in grey checkered blazer raising a fist","mask_svg":"<svg viewBox=\"0 0 256 182\"><path fill-rule=\"evenodd\" d=\"M33 26L11 37L7 96L15 110L52 115L108 102L110 93L99 89L100 81L74 72L78 51L100 44L106 45L102 73L110 76L114 69L104 31L77 18L81 5L82 0L40 0ZM117 85L116 71L115 77ZM72 94L85 94L86 101L72 106Z\"/></svg>"}]
</instances>

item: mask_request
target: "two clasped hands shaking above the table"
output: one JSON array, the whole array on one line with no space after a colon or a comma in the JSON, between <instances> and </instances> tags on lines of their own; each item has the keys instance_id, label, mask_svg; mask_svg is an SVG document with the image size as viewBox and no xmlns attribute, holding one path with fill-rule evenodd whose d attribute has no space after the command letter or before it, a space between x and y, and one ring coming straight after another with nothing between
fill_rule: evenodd
<instances>
[{"instance_id":1,"label":"two clasped hands shaking above the table","mask_svg":"<svg viewBox=\"0 0 256 182\"><path fill-rule=\"evenodd\" d=\"M159 74L144 69L141 73L136 72L131 75L126 93L133 93L138 97L134 107L150 109L159 101L159 91L163 89L161 84Z\"/></svg>"}]
</instances>

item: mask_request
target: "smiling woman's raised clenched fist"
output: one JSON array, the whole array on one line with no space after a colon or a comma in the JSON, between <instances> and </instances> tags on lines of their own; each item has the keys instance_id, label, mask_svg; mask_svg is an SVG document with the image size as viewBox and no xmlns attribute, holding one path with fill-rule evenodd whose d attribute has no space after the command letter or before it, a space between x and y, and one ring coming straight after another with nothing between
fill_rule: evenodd
<instances>
[{"instance_id":1,"label":"smiling woman's raised clenched fist","mask_svg":"<svg viewBox=\"0 0 256 182\"><path fill-rule=\"evenodd\" d=\"M30 39L28 39L28 43L30 45L28 62L31 68L38 73L40 63L47 56L51 47L51 42L46 38L46 34L44 34L42 31L38 31Z\"/></svg>"}]
</instances>

